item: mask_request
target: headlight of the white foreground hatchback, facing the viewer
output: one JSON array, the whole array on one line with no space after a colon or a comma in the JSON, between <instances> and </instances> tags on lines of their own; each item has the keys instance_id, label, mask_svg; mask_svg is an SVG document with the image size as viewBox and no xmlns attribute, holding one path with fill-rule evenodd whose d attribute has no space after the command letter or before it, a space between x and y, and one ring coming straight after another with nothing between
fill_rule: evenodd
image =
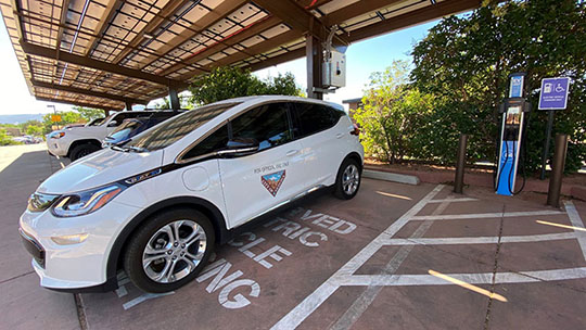
<instances>
[{"instance_id":1,"label":"headlight of the white foreground hatchback, facing the viewer","mask_svg":"<svg viewBox=\"0 0 586 330\"><path fill-rule=\"evenodd\" d=\"M114 183L66 194L55 202L51 212L58 217L74 217L90 214L107 204L125 189L125 186Z\"/></svg>"}]
</instances>

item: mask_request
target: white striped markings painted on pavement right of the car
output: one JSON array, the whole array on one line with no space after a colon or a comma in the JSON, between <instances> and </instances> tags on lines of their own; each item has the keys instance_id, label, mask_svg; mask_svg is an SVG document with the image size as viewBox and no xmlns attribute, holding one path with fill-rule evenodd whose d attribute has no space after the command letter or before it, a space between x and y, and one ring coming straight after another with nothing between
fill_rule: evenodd
<instances>
[{"instance_id":1,"label":"white striped markings painted on pavement right of the car","mask_svg":"<svg viewBox=\"0 0 586 330\"><path fill-rule=\"evenodd\" d=\"M407 258L410 250L404 250L416 244L496 244L538 242L553 240L577 239L584 256L586 258L586 234L583 231L561 232L533 236L509 236L509 237L474 237L474 238L421 238L411 237L409 239L393 239L407 223L411 220L433 223L436 220L453 219L482 219L482 218L504 218L504 217L526 217L544 215L568 215L572 225L584 228L582 219L577 215L571 202L565 204L568 212L561 211L528 211L528 212L502 212L502 213L481 213L481 214L456 214L440 215L434 212L428 216L417 216L417 214L430 203L471 202L474 199L446 199L433 200L444 186L436 186L428 195L413 205L400 218L394 221L388 228L381 232L367 246L358 252L352 259L334 272L326 282L318 287L311 294L303 300L291 312L284 315L271 329L294 329L298 327L309 315L311 315L321 304L323 304L339 288L344 285L367 287L367 290L352 304L344 315L334 323L332 329L347 329L360 317L360 315L372 303L373 296L380 292L381 287L396 285L454 285L454 282L433 275L394 275L400 264ZM442 204L441 204L442 205ZM416 230L417 232L417 230ZM384 245L403 245L390 263L383 269L382 275L354 275L364 264L370 259ZM539 281L556 281L569 279L586 278L586 267L517 271L517 272L485 272L485 274L446 274L448 278L471 284L498 284L498 283L528 283Z\"/></svg>"}]
</instances>

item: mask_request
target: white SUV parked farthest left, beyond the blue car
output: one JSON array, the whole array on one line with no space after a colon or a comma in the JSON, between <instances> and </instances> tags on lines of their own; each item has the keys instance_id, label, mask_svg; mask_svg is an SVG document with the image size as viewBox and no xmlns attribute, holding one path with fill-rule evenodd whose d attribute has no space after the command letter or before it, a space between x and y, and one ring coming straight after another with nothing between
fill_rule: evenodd
<instances>
[{"instance_id":1,"label":"white SUV parked farthest left, beyond the blue car","mask_svg":"<svg viewBox=\"0 0 586 330\"><path fill-rule=\"evenodd\" d=\"M117 112L102 122L97 119L81 127L69 127L51 132L47 137L49 153L69 157L72 162L102 149L102 140L124 119L148 116L161 111L125 111ZM99 124L98 124L99 123Z\"/></svg>"}]
</instances>

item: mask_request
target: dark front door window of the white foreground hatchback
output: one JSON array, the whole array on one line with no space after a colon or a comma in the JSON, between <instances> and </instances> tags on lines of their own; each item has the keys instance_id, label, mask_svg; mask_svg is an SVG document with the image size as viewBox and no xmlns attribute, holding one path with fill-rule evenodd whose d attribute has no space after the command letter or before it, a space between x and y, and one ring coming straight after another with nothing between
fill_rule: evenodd
<instances>
[{"instance_id":1,"label":"dark front door window of the white foreground hatchback","mask_svg":"<svg viewBox=\"0 0 586 330\"><path fill-rule=\"evenodd\" d=\"M288 103L270 103L247 111L230 122L232 139L255 139L259 143L258 150L291 141L288 106Z\"/></svg>"}]
</instances>

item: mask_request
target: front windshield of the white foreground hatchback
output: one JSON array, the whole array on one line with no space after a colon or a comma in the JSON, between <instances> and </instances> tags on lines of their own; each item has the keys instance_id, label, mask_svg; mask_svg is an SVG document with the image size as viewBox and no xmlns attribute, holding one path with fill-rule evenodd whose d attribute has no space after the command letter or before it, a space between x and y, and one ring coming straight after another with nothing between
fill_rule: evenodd
<instances>
[{"instance_id":1,"label":"front windshield of the white foreground hatchback","mask_svg":"<svg viewBox=\"0 0 586 330\"><path fill-rule=\"evenodd\" d=\"M238 104L240 103L211 104L190 110L184 114L165 120L148 134L130 140L125 147L133 147L142 151L166 148Z\"/></svg>"}]
</instances>

